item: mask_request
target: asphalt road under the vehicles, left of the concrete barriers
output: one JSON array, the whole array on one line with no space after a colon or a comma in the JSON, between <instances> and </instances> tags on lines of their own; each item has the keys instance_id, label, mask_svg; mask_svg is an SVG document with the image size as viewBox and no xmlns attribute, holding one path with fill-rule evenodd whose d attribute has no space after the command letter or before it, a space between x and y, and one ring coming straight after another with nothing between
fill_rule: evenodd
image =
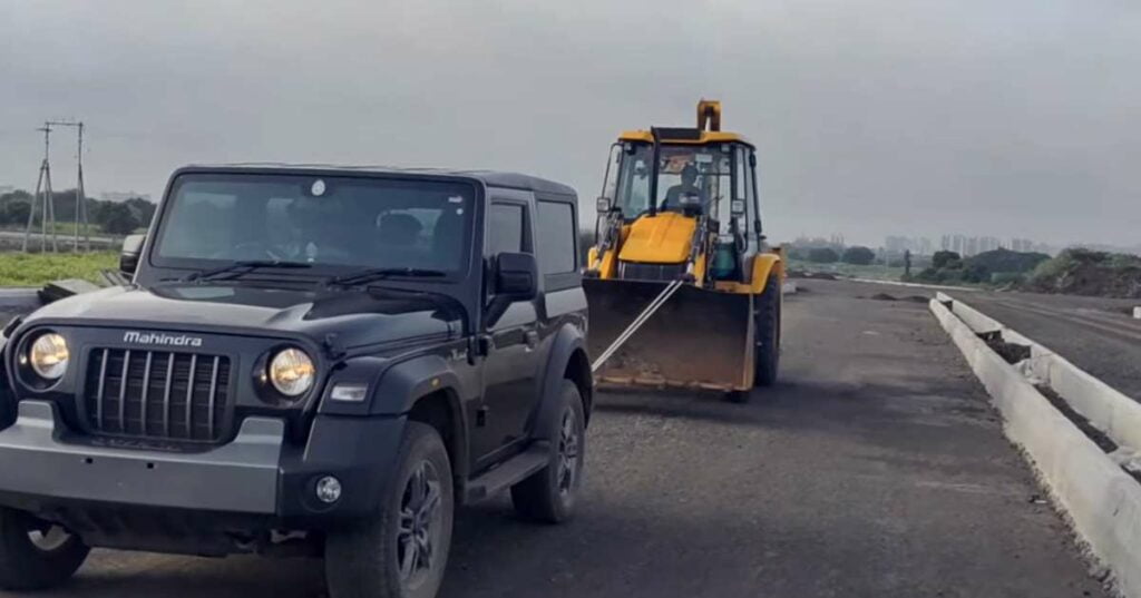
<instances>
[{"instance_id":1,"label":"asphalt road under the vehicles, left of the concrete barriers","mask_svg":"<svg viewBox=\"0 0 1141 598\"><path fill-rule=\"evenodd\" d=\"M1104 596L926 306L859 298L915 293L800 285L779 386L748 405L600 396L577 519L462 511L443 596ZM321 588L315 560L97 551L40 596Z\"/></svg>"}]
</instances>

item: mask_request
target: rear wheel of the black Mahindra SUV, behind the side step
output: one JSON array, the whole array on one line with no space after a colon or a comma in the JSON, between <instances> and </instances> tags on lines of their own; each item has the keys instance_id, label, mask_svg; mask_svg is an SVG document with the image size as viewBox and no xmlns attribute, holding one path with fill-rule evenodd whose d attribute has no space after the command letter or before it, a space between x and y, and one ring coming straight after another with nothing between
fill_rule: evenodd
<instances>
[{"instance_id":1,"label":"rear wheel of the black Mahindra SUV, behind the side step","mask_svg":"<svg viewBox=\"0 0 1141 598\"><path fill-rule=\"evenodd\" d=\"M582 484L585 455L585 418L582 395L570 380L563 380L555 420L545 422L551 443L547 467L511 486L511 503L527 519L558 524L574 515Z\"/></svg>"}]
</instances>

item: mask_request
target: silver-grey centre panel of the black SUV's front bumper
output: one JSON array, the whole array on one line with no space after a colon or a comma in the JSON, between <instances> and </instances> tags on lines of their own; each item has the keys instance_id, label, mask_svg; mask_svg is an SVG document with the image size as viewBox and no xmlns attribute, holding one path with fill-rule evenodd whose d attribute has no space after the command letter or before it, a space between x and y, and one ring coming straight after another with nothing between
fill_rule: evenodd
<instances>
[{"instance_id":1,"label":"silver-grey centre panel of the black SUV's front bumper","mask_svg":"<svg viewBox=\"0 0 1141 598\"><path fill-rule=\"evenodd\" d=\"M111 448L67 442L54 403L23 401L0 431L0 493L274 515L285 425L246 418L233 442L197 453Z\"/></svg>"}]
</instances>

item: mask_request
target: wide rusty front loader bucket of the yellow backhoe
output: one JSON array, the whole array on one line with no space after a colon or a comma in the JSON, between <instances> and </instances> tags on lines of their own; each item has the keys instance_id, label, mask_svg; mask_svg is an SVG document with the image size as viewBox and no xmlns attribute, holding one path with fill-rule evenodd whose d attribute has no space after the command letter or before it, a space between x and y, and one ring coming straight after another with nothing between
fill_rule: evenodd
<instances>
[{"instance_id":1,"label":"wide rusty front loader bucket of the yellow backhoe","mask_svg":"<svg viewBox=\"0 0 1141 598\"><path fill-rule=\"evenodd\" d=\"M591 358L665 288L664 282L585 278ZM748 390L753 386L752 296L683 284L602 366L607 386Z\"/></svg>"}]
</instances>

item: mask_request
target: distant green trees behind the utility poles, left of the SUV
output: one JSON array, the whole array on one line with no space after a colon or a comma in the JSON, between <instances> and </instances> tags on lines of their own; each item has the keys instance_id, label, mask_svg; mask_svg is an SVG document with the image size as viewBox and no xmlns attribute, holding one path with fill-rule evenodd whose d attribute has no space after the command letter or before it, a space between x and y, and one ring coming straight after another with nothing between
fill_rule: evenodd
<instances>
[{"instance_id":1,"label":"distant green trees behind the utility poles, left of the SUV","mask_svg":"<svg viewBox=\"0 0 1141 598\"><path fill-rule=\"evenodd\" d=\"M56 223L75 221L75 189L63 189L52 193L52 207ZM154 217L155 204L143 197L131 197L123 202L113 202L87 197L87 218L96 228L111 235L128 235L138 228L145 228ZM27 226L27 215L32 209L32 194L17 189L0 195L0 227L13 228ZM40 226L42 215L37 211L34 226Z\"/></svg>"}]
</instances>

